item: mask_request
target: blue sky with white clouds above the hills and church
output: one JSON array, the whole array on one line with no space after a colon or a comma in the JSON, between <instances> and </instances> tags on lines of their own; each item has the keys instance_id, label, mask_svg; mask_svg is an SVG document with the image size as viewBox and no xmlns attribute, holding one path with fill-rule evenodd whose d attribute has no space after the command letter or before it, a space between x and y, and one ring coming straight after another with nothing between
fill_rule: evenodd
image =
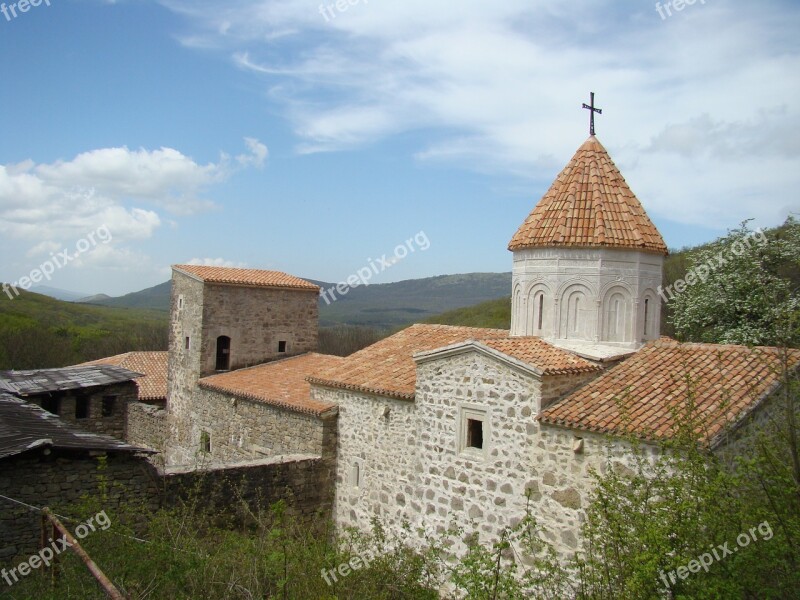
<instances>
[{"instance_id":1,"label":"blue sky with white clouds above the hills and church","mask_svg":"<svg viewBox=\"0 0 800 600\"><path fill-rule=\"evenodd\" d=\"M33 2L0 0L0 281L510 271L590 92L670 248L800 213L797 0Z\"/></svg>"}]
</instances>

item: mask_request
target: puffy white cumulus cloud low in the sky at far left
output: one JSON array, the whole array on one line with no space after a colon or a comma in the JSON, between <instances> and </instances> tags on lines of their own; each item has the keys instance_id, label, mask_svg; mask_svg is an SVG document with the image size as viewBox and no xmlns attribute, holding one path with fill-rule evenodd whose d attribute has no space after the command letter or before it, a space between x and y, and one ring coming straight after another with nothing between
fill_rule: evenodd
<instances>
[{"instance_id":1,"label":"puffy white cumulus cloud low in the sky at far left","mask_svg":"<svg viewBox=\"0 0 800 600\"><path fill-rule=\"evenodd\" d=\"M132 260L120 244L152 237L162 213L176 216L214 208L207 190L237 170L263 167L267 147L245 138L247 152L232 162L199 164L174 148L100 148L70 160L0 165L0 235L37 240L27 254L43 255L106 226L114 247L93 255L108 263ZM76 263L77 264L77 263Z\"/></svg>"}]
</instances>

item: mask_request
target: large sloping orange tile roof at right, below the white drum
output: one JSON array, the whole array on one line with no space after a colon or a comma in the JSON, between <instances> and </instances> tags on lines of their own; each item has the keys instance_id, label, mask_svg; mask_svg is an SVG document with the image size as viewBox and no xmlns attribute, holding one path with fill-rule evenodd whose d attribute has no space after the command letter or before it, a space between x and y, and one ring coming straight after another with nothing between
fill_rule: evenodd
<instances>
[{"instance_id":1,"label":"large sloping orange tile roof at right, below the white drum","mask_svg":"<svg viewBox=\"0 0 800 600\"><path fill-rule=\"evenodd\" d=\"M780 382L781 350L661 339L546 408L543 423L649 440L675 433L674 411L693 392L697 434L713 444ZM789 351L791 368L800 350ZM691 388L690 388L691 386Z\"/></svg>"}]
</instances>

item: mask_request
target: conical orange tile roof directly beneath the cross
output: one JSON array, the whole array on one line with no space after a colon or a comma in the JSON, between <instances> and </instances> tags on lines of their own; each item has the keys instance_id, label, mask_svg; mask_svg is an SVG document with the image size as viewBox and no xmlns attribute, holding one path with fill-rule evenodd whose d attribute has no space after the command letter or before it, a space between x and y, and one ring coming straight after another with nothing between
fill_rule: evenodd
<instances>
[{"instance_id":1,"label":"conical orange tile roof directly beneath the cross","mask_svg":"<svg viewBox=\"0 0 800 600\"><path fill-rule=\"evenodd\" d=\"M658 229L595 137L578 149L511 238L508 249L553 246L667 254Z\"/></svg>"}]
</instances>

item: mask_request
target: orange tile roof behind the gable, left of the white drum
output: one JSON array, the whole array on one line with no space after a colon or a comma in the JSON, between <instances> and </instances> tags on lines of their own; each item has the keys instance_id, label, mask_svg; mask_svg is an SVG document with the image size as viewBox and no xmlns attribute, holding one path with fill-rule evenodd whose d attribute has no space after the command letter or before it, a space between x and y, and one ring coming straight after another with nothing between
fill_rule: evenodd
<instances>
[{"instance_id":1,"label":"orange tile roof behind the gable, left of the white drum","mask_svg":"<svg viewBox=\"0 0 800 600\"><path fill-rule=\"evenodd\" d=\"M412 325L351 354L339 365L310 377L309 381L328 387L412 400L417 383L414 354L473 339L507 336L508 331L503 329Z\"/></svg>"}]
</instances>

